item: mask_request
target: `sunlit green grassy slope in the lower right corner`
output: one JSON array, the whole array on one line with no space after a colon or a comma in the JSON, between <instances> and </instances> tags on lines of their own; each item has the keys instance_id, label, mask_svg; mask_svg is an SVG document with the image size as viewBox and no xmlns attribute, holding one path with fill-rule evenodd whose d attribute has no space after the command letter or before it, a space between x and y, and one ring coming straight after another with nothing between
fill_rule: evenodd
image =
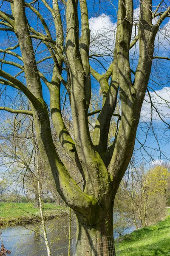
<instances>
[{"instance_id":1,"label":"sunlit green grassy slope in the lower right corner","mask_svg":"<svg viewBox=\"0 0 170 256\"><path fill-rule=\"evenodd\" d=\"M124 236L119 251L120 256L170 256L170 216Z\"/></svg>"}]
</instances>

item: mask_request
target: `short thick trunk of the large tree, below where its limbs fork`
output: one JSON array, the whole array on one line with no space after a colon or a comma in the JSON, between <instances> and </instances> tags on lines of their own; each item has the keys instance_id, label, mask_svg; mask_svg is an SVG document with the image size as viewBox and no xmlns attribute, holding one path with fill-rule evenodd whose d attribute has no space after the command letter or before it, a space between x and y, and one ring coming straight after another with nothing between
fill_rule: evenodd
<instances>
[{"instance_id":1,"label":"short thick trunk of the large tree, below where its limbs fork","mask_svg":"<svg viewBox=\"0 0 170 256\"><path fill-rule=\"evenodd\" d=\"M94 214L94 224L87 224L77 215L77 240L73 244L76 256L115 256L113 240L113 209L100 208Z\"/></svg>"}]
</instances>

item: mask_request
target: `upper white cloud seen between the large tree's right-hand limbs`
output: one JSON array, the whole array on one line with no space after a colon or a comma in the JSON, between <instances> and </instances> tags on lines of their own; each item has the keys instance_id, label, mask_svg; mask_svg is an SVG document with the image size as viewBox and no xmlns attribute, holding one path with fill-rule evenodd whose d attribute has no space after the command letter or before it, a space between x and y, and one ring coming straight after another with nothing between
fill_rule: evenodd
<instances>
[{"instance_id":1,"label":"upper white cloud seen between the large tree's right-hand limbs","mask_svg":"<svg viewBox=\"0 0 170 256\"><path fill-rule=\"evenodd\" d=\"M158 17L153 20L153 24L156 23ZM136 35L138 35L139 24L139 7L134 9L134 19L132 29L132 41ZM105 14L98 17L91 17L89 19L89 26L91 29L91 51L96 54L113 54L115 38L116 38L116 26L117 23L113 23L111 17ZM167 56L170 50L170 20L159 29L159 32L155 39L155 55L161 54ZM139 52L139 42L136 43L135 55ZM134 57L134 48L130 50L131 57Z\"/></svg>"}]
</instances>

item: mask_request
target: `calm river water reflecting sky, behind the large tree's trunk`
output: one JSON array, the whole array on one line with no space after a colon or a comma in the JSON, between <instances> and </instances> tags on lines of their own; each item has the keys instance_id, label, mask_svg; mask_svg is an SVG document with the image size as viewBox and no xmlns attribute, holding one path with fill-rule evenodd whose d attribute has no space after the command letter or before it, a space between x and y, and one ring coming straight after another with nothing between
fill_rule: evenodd
<instances>
[{"instance_id":1,"label":"calm river water reflecting sky, behind the large tree's trunk","mask_svg":"<svg viewBox=\"0 0 170 256\"><path fill-rule=\"evenodd\" d=\"M62 217L46 221L48 239L54 256L68 256L68 218ZM134 227L125 233L131 233ZM72 237L75 238L76 222L72 221ZM11 250L10 256L46 256L45 242L40 224L27 224L25 227L8 227L2 231L3 244ZM114 233L114 238L118 234ZM71 254L72 255L72 254Z\"/></svg>"}]
</instances>

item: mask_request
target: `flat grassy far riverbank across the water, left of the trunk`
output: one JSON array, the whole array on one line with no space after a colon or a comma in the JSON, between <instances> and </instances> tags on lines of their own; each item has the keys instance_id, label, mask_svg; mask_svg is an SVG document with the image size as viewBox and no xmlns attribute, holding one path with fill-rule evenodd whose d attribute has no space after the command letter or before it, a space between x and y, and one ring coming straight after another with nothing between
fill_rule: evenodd
<instances>
[{"instance_id":1,"label":"flat grassy far riverbank across the water, left of the trunk","mask_svg":"<svg viewBox=\"0 0 170 256\"><path fill-rule=\"evenodd\" d=\"M64 207L56 204L44 204L45 220L61 217L67 214ZM0 218L3 228L40 221L40 210L32 203L6 203L0 202Z\"/></svg>"}]
</instances>

